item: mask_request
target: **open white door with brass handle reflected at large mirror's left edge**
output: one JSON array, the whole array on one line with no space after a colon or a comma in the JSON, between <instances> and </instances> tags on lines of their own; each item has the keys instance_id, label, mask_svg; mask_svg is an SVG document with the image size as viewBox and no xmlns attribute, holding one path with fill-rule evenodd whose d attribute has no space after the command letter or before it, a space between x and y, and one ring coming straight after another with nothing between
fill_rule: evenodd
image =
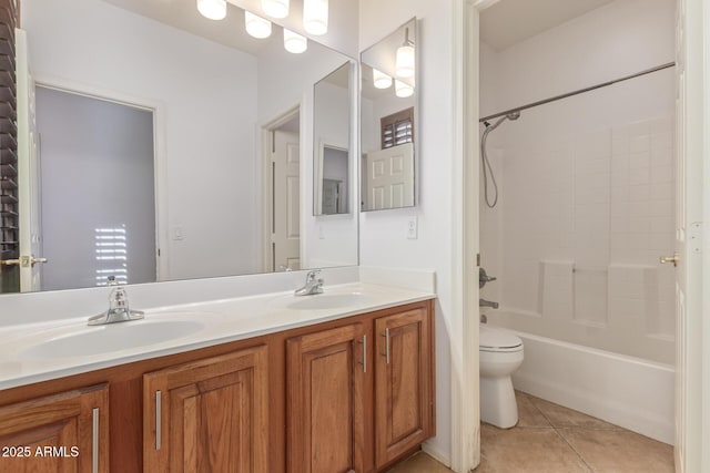
<instances>
[{"instance_id":1,"label":"open white door with brass handle reflected at large mirror's left edge","mask_svg":"<svg viewBox=\"0 0 710 473\"><path fill-rule=\"evenodd\" d=\"M41 289L41 208L34 80L29 70L27 34L16 30L18 100L18 196L20 227L20 291Z\"/></svg>"}]
</instances>

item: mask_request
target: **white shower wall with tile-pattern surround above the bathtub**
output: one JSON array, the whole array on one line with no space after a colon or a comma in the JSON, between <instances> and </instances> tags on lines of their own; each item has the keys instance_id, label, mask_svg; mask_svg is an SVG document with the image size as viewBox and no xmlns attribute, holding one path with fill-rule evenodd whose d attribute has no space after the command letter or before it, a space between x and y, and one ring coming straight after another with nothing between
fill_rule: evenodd
<instances>
[{"instance_id":1,"label":"white shower wall with tile-pattern surround above the bathtub","mask_svg":"<svg viewBox=\"0 0 710 473\"><path fill-rule=\"evenodd\" d=\"M483 115L673 61L674 1L618 0L481 48ZM521 112L491 133L481 203L494 323L672 363L674 71ZM483 130L483 127L481 127Z\"/></svg>"}]
</instances>

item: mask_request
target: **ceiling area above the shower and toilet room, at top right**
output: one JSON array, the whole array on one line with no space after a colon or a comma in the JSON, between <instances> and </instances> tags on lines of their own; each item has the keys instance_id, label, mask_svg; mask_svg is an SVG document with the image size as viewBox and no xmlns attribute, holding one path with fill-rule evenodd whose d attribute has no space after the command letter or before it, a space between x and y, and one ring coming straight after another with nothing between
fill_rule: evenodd
<instances>
[{"instance_id":1,"label":"ceiling area above the shower and toilet room, at top right","mask_svg":"<svg viewBox=\"0 0 710 473\"><path fill-rule=\"evenodd\" d=\"M499 0L480 13L480 38L496 51L613 0Z\"/></svg>"}]
</instances>

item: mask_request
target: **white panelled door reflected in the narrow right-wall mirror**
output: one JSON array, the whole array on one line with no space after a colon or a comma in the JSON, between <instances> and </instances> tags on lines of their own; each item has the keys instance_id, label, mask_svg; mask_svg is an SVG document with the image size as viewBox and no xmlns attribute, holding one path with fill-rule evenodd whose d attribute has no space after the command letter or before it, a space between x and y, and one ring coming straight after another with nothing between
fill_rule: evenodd
<instances>
[{"instance_id":1,"label":"white panelled door reflected in the narrow right-wall mirror","mask_svg":"<svg viewBox=\"0 0 710 473\"><path fill-rule=\"evenodd\" d=\"M412 207L414 205L414 144L367 153L365 209Z\"/></svg>"}]
</instances>

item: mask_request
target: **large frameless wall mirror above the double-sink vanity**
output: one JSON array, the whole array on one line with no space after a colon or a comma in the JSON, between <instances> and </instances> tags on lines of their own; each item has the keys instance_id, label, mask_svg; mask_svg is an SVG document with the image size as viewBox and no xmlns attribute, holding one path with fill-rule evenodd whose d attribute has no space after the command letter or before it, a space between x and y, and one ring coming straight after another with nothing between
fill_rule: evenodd
<instances>
[{"instance_id":1,"label":"large frameless wall mirror above the double-sink vanity","mask_svg":"<svg viewBox=\"0 0 710 473\"><path fill-rule=\"evenodd\" d=\"M355 216L312 222L314 123L351 116L354 60L275 23L253 38L226 8L212 21L194 1L22 2L38 152L21 253L48 263L8 291L357 265ZM314 106L343 68L344 100ZM325 142L323 162L347 148ZM344 191L335 212L356 204Z\"/></svg>"}]
</instances>

